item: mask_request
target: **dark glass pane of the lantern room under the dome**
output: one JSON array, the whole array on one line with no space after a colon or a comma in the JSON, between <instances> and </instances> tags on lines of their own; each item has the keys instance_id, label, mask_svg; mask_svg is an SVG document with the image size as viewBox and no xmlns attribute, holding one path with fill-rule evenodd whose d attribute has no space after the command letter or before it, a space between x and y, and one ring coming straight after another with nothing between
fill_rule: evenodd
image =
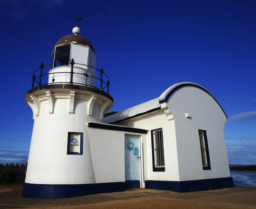
<instances>
[{"instance_id":1,"label":"dark glass pane of the lantern room under the dome","mask_svg":"<svg viewBox=\"0 0 256 209\"><path fill-rule=\"evenodd\" d=\"M69 64L70 48L71 48L71 44L66 44L66 45L62 45L55 48L54 68Z\"/></svg>"}]
</instances>

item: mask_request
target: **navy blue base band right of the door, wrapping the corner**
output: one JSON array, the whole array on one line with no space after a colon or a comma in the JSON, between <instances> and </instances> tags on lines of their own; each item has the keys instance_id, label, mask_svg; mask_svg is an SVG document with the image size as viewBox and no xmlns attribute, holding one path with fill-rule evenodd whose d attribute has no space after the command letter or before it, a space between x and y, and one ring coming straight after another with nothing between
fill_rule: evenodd
<instances>
[{"instance_id":1,"label":"navy blue base band right of the door, wrapping the corner","mask_svg":"<svg viewBox=\"0 0 256 209\"><path fill-rule=\"evenodd\" d=\"M169 190L169 191L175 191L175 192L197 192L197 191L217 190L217 189L231 188L231 187L234 187L233 179L231 177L182 181L182 182L154 181L154 180L145 181L146 189Z\"/></svg>"}]
</instances>

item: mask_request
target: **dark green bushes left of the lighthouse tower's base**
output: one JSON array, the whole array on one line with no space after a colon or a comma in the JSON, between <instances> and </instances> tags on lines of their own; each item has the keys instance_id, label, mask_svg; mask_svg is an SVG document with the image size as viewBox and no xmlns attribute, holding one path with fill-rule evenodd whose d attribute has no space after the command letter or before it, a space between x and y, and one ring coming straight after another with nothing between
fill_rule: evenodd
<instances>
[{"instance_id":1,"label":"dark green bushes left of the lighthouse tower's base","mask_svg":"<svg viewBox=\"0 0 256 209\"><path fill-rule=\"evenodd\" d=\"M0 164L0 185L20 185L25 182L28 164Z\"/></svg>"}]
</instances>

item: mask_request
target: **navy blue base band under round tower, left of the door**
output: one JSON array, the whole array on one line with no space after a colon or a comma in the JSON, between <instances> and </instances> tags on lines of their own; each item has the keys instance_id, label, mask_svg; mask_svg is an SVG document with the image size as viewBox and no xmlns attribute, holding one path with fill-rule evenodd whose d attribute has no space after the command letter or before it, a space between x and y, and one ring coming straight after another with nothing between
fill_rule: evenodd
<instances>
[{"instance_id":1,"label":"navy blue base band under round tower, left of the door","mask_svg":"<svg viewBox=\"0 0 256 209\"><path fill-rule=\"evenodd\" d=\"M97 184L23 184L22 197L33 199L60 199L97 193L126 191L125 182Z\"/></svg>"}]
</instances>

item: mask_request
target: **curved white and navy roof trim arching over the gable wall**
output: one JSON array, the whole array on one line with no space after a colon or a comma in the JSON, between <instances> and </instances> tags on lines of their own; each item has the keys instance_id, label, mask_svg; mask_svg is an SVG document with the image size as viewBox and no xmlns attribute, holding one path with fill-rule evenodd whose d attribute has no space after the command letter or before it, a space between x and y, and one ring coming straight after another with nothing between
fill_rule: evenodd
<instances>
[{"instance_id":1,"label":"curved white and navy roof trim arching over the gable wall","mask_svg":"<svg viewBox=\"0 0 256 209\"><path fill-rule=\"evenodd\" d=\"M202 91L208 93L214 100L215 102L219 105L219 107L222 109L222 112L224 113L224 115L226 116L227 118L227 115L226 113L224 112L222 106L218 103L217 99L215 99L215 97L209 92L207 91L205 88L203 88L202 86L196 84L196 83L191 83L191 82L181 82L181 83L176 83L175 85L167 88L167 90L165 90L161 96L158 98L159 100L159 103L162 104L162 103L165 103L169 97L176 91L178 90L179 88L181 87L184 87L184 86L193 86L193 87L196 87L196 88L199 88L201 89Z\"/></svg>"}]
</instances>

